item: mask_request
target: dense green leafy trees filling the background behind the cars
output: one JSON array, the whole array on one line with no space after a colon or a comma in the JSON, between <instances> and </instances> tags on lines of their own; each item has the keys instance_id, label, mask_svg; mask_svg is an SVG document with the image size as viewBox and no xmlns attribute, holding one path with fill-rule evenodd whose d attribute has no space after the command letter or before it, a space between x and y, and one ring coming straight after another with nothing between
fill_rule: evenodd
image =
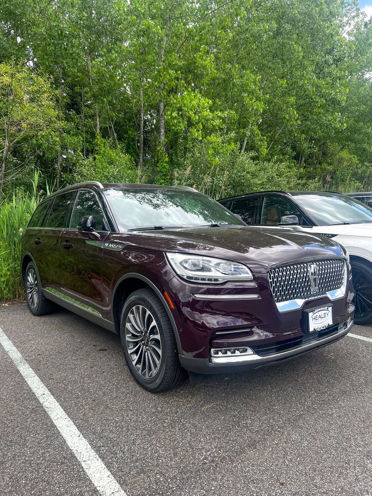
<instances>
[{"instance_id":1,"label":"dense green leafy trees filling the background behind the cars","mask_svg":"<svg viewBox=\"0 0 372 496\"><path fill-rule=\"evenodd\" d=\"M134 162L142 181L171 183L205 150L195 184L213 176L214 192L251 162L304 187L371 188L372 25L354 0L9 0L0 18L2 77L31 96L6 178L129 181ZM261 184L244 181L228 188Z\"/></svg>"}]
</instances>

